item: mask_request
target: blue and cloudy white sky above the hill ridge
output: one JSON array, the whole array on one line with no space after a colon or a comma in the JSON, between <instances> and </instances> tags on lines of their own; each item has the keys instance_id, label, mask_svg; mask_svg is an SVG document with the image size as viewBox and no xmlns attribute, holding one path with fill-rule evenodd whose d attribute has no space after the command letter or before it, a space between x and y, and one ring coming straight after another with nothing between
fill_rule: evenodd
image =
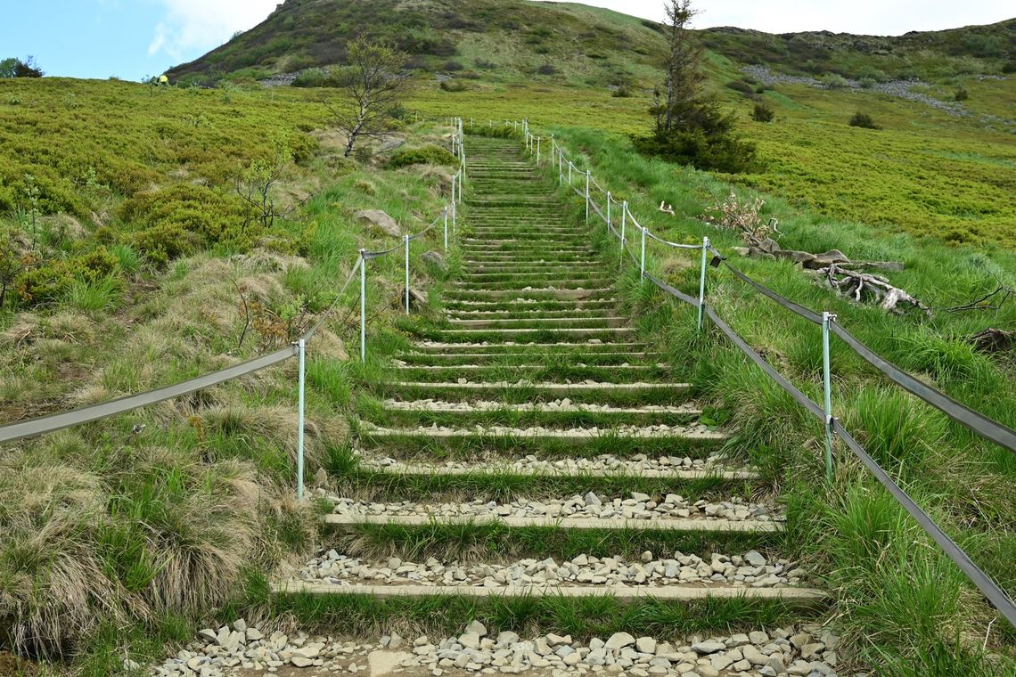
<instances>
[{"instance_id":1,"label":"blue and cloudy white sky above the hill ridge","mask_svg":"<svg viewBox=\"0 0 1016 677\"><path fill-rule=\"evenodd\" d=\"M3 0L0 59L36 57L48 75L139 80L191 61L262 21L280 0ZM368 0L369 1L369 0ZM585 0L645 18L662 0ZM699 0L695 27L900 35L994 23L1012 0Z\"/></svg>"}]
</instances>

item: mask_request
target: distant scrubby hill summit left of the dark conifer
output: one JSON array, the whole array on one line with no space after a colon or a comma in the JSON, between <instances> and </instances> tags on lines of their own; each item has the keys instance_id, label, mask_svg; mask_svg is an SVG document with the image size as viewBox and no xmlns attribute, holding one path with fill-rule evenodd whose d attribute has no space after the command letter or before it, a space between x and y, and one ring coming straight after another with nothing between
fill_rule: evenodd
<instances>
[{"instance_id":1,"label":"distant scrubby hill summit left of the dark conifer","mask_svg":"<svg viewBox=\"0 0 1016 677\"><path fill-rule=\"evenodd\" d=\"M654 27L562 3L288 0L251 30L169 74L215 81L340 64L346 39L364 32L392 42L421 73L605 85L651 75L651 55L662 44Z\"/></svg>"}]
</instances>

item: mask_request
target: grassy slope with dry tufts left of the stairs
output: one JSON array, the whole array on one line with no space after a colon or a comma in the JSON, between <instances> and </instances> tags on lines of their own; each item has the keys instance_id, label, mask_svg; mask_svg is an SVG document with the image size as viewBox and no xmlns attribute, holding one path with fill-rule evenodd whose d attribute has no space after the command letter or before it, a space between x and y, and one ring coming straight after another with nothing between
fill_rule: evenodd
<instances>
[{"instance_id":1,"label":"grassy slope with dry tufts left of the stairs","mask_svg":"<svg viewBox=\"0 0 1016 677\"><path fill-rule=\"evenodd\" d=\"M81 282L75 287L80 293L0 311L5 421L175 383L284 345L331 300L358 249L390 246L357 223L354 211L385 209L419 230L448 191L440 167L389 171L342 159L328 133L316 129L326 123L319 106L301 92L152 91L60 80L0 84L5 98L20 101L18 128L38 123L31 134L0 139L0 152L12 156L14 145L31 150L21 153L21 166L50 177L47 186L72 186L79 175L47 159L44 149L100 167L107 187L80 192L86 214L121 214L131 199L130 186L107 184L113 181L107 167L139 167L145 182L160 186L145 184L139 193L200 177L210 196L225 199L234 157L256 152L258 139L280 131L314 149L287 167L277 189L283 201L310 199L256 242L212 244L168 265L135 252L137 266L118 269L111 288ZM76 104L70 109L61 105L68 88ZM192 133L149 136L153 128L186 127L192 116L206 121ZM71 122L61 126L62 119ZM60 131L66 128L73 134ZM447 132L420 123L401 133L414 144L443 145ZM79 149L89 133L121 143ZM199 156L180 159L196 149ZM22 192L13 195L18 206L25 203ZM55 259L94 247L101 228L128 243L146 227L128 216L96 214L75 221L70 235L57 233L53 223L71 218L39 217L42 240L60 243L50 252ZM5 216L2 225L30 236L16 218ZM440 248L439 240L436 230L414 245L415 284L426 287L440 278L420 263L425 251ZM122 254L131 249L115 247L123 247ZM401 270L398 258L371 263L372 334L397 309ZM250 326L241 293L251 309ZM97 296L101 302L88 300ZM342 361L340 339L357 333L355 306L351 291L310 344L309 474L329 446L345 438L345 409L360 377ZM378 349L397 344L397 337L382 339ZM62 651L76 656L72 668L80 674L116 674L124 649L138 659L160 659L164 641L192 636L195 619L287 553L306 548L314 533L311 515L293 500L295 369L295 362L285 362L174 402L4 446L0 651L12 644L29 654Z\"/></svg>"}]
</instances>

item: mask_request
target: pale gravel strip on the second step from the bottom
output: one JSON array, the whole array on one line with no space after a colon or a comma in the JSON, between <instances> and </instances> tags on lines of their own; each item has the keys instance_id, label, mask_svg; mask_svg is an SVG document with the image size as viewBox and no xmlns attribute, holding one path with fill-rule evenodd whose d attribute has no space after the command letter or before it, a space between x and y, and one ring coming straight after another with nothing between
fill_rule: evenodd
<instances>
[{"instance_id":1,"label":"pale gravel strip on the second step from the bottom","mask_svg":"<svg viewBox=\"0 0 1016 677\"><path fill-rule=\"evenodd\" d=\"M348 516L431 516L441 517L515 517L563 520L623 519L669 520L700 519L732 522L781 522L785 517L771 505L747 502L739 496L724 501L687 500L669 493L654 499L644 493L632 492L628 498L609 498L592 491L585 496L569 498L518 498L508 503L477 498L469 502L421 503L414 500L380 503L356 500L344 496L329 496L332 512Z\"/></svg>"}]
</instances>

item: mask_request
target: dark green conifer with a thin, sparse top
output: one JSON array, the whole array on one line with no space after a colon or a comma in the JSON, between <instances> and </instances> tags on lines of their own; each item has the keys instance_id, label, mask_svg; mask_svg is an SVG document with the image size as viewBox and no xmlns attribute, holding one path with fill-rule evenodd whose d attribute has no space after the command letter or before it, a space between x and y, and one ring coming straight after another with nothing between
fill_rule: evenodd
<instances>
[{"instance_id":1,"label":"dark green conifer with a thin, sparse top","mask_svg":"<svg viewBox=\"0 0 1016 677\"><path fill-rule=\"evenodd\" d=\"M736 135L736 115L724 114L715 96L703 91L703 50L689 27L695 16L691 0L668 0L664 8L665 79L649 109L652 133L636 138L636 147L702 170L747 171L754 164L755 146Z\"/></svg>"}]
</instances>

